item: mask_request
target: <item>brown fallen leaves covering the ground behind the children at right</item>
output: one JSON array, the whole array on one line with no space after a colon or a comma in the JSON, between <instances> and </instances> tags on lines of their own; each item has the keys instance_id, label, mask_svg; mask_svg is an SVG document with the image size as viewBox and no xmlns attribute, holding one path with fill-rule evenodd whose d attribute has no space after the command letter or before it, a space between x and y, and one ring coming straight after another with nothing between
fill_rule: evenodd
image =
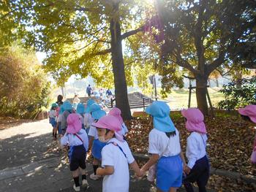
<instances>
[{"instance_id":1,"label":"brown fallen leaves covering the ground behind the children at right","mask_svg":"<svg viewBox=\"0 0 256 192\"><path fill-rule=\"evenodd\" d=\"M189 133L185 128L184 118L173 118L180 132L181 147L186 150ZM152 129L149 118L127 120L129 133L127 141L134 153L148 153L148 134ZM253 140L256 135L254 125L237 116L217 116L206 118L208 131L208 157L211 166L241 174L256 175L256 165L249 161Z\"/></svg>"}]
</instances>

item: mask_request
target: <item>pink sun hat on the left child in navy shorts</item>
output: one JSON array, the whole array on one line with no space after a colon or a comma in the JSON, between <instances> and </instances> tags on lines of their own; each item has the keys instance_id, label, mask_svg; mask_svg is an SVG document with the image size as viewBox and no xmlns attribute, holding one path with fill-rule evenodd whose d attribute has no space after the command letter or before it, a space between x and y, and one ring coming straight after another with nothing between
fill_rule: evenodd
<instances>
[{"instance_id":1,"label":"pink sun hat on the left child in navy shorts","mask_svg":"<svg viewBox=\"0 0 256 192\"><path fill-rule=\"evenodd\" d=\"M76 113L71 113L67 116L67 133L76 134L82 128L82 123L80 121L79 115Z\"/></svg>"}]
</instances>

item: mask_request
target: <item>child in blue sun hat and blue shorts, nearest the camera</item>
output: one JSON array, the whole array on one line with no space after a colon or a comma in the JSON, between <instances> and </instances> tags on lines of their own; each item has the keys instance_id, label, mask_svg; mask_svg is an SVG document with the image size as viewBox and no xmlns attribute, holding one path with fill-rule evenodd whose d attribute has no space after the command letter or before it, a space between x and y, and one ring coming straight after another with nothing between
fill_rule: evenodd
<instances>
[{"instance_id":1,"label":"child in blue sun hat and blue shorts, nearest the camera","mask_svg":"<svg viewBox=\"0 0 256 192\"><path fill-rule=\"evenodd\" d=\"M146 108L146 113L153 117L154 128L148 137L148 153L151 153L151 158L141 171L145 173L157 164L157 190L176 191L182 183L184 157L178 130L169 116L170 107L163 101L154 101Z\"/></svg>"}]
</instances>

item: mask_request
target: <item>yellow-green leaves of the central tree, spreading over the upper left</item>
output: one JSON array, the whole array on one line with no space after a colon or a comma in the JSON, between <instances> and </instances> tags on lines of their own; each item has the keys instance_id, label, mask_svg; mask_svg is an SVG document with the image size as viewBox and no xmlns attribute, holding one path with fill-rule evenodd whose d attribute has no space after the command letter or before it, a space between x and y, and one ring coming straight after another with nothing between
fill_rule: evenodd
<instances>
[{"instance_id":1,"label":"yellow-green leaves of the central tree, spreading over the upper left","mask_svg":"<svg viewBox=\"0 0 256 192\"><path fill-rule=\"evenodd\" d=\"M97 85L105 88L113 87L110 20L119 22L124 34L142 26L146 12L152 8L146 0L21 0L4 1L2 5L2 28L11 31L10 37L14 35L11 28L26 28L15 34L22 36L27 46L47 53L43 69L50 72L59 85L72 74L78 74L82 78L91 75ZM131 57L126 53L124 50L129 60ZM135 77L132 65L128 64L125 69L127 85L132 85Z\"/></svg>"}]
</instances>

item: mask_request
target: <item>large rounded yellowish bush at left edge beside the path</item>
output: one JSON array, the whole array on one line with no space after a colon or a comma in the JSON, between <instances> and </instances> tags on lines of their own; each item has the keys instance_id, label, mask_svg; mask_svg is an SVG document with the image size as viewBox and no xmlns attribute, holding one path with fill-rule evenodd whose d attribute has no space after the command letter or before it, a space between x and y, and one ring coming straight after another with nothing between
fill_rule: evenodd
<instances>
[{"instance_id":1,"label":"large rounded yellowish bush at left edge beside the path","mask_svg":"<svg viewBox=\"0 0 256 192\"><path fill-rule=\"evenodd\" d=\"M32 118L48 107L50 82L34 52L17 45L0 54L0 115Z\"/></svg>"}]
</instances>

